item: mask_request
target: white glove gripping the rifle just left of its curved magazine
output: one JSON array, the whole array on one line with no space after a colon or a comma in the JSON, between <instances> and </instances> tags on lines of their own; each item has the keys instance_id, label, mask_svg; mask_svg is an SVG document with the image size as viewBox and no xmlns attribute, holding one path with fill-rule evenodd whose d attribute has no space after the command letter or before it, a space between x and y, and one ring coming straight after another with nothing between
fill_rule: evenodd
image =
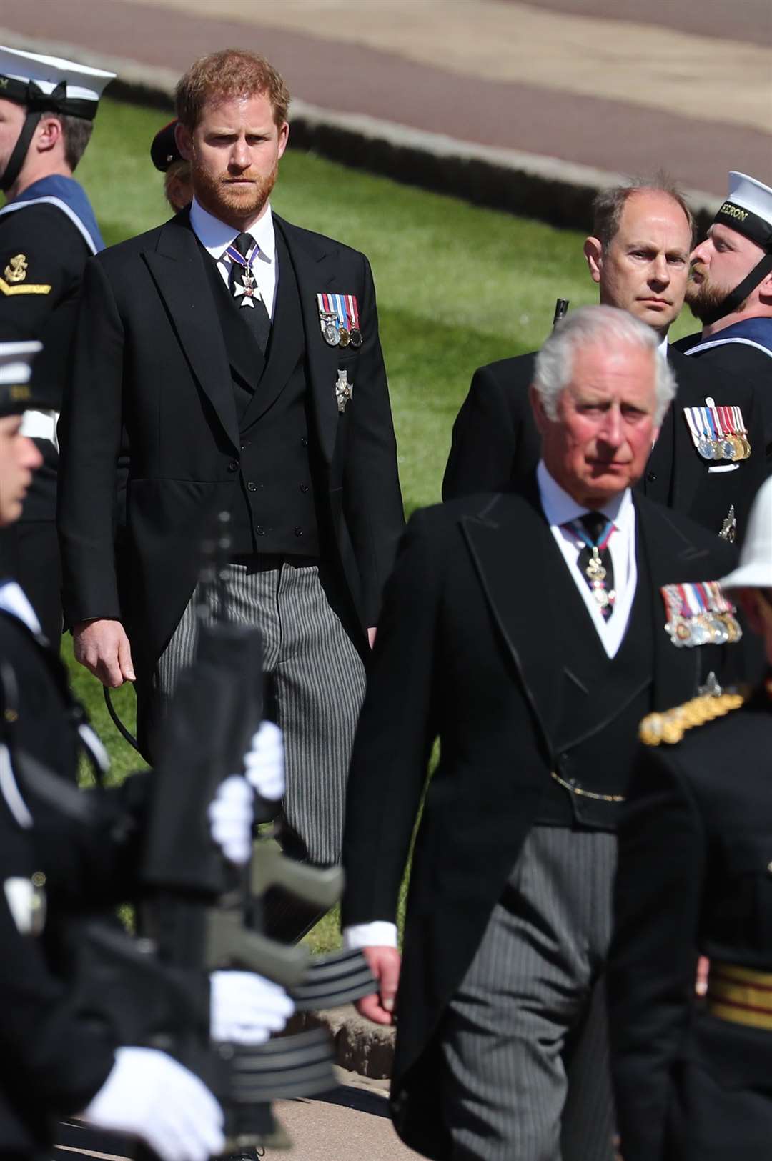
<instances>
[{"instance_id":1,"label":"white glove gripping the rifle just left of its curved magazine","mask_svg":"<svg viewBox=\"0 0 772 1161\"><path fill-rule=\"evenodd\" d=\"M232 1044L265 1044L295 1011L283 988L254 972L212 972L210 1034Z\"/></svg>"}]
</instances>

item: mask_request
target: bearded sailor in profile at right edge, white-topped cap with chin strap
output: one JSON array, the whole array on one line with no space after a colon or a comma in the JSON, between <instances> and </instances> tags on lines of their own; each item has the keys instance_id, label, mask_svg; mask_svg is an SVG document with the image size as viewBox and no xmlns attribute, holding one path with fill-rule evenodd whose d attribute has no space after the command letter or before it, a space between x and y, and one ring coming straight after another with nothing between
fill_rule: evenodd
<instances>
[{"instance_id":1,"label":"bearded sailor in profile at right edge, white-topped cap with chin strap","mask_svg":"<svg viewBox=\"0 0 772 1161\"><path fill-rule=\"evenodd\" d=\"M691 259L686 302L702 332L676 346L756 388L772 467L772 189L730 173L727 200Z\"/></svg>"}]
</instances>

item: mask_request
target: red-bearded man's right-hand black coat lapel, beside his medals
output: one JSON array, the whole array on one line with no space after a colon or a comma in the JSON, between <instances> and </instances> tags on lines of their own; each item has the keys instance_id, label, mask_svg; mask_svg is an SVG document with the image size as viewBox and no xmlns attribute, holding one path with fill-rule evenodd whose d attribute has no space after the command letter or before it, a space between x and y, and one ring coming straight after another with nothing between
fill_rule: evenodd
<instances>
[{"instance_id":1,"label":"red-bearded man's right-hand black coat lapel, beside his medals","mask_svg":"<svg viewBox=\"0 0 772 1161\"><path fill-rule=\"evenodd\" d=\"M309 236L305 231L274 215L276 228L287 244L289 259L297 280L301 300L309 384L317 420L319 449L326 463L332 460L338 434L338 402L336 381L338 378L338 347L329 346L319 327L317 294L340 290L333 262L336 244Z\"/></svg>"}]
</instances>

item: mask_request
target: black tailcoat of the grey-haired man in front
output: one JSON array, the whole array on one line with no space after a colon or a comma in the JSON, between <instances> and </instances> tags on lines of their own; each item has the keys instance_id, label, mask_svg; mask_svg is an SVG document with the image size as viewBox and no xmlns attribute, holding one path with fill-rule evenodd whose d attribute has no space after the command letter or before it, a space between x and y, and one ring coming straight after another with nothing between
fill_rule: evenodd
<instances>
[{"instance_id":1,"label":"black tailcoat of the grey-haired man in front","mask_svg":"<svg viewBox=\"0 0 772 1161\"><path fill-rule=\"evenodd\" d=\"M673 647L659 587L724 576L736 553L644 497L635 505L656 610L652 705L665 708L692 697L709 669L721 678L724 658L715 646ZM391 1087L397 1131L430 1158L449 1156L436 1040L443 1009L551 786L550 771L563 751L570 757L573 744L609 724L601 704L580 737L551 731L564 680L550 616L558 569L565 562L533 477L522 495L472 496L413 515L385 590L351 766L342 923L395 921L439 737L412 864Z\"/></svg>"}]
</instances>

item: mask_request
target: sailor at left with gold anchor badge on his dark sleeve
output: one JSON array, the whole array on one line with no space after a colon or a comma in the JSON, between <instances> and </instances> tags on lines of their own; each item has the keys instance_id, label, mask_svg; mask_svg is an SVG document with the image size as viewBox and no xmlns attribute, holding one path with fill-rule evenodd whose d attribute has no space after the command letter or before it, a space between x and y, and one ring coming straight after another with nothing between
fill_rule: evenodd
<instances>
[{"instance_id":1,"label":"sailor at left with gold anchor badge on his dark sleeve","mask_svg":"<svg viewBox=\"0 0 772 1161\"><path fill-rule=\"evenodd\" d=\"M35 374L53 409L30 411L24 434L43 455L21 520L7 536L13 567L58 649L62 587L56 534L57 413L87 258L103 248L94 211L72 176L104 86L115 74L0 46L0 339L38 338Z\"/></svg>"}]
</instances>

